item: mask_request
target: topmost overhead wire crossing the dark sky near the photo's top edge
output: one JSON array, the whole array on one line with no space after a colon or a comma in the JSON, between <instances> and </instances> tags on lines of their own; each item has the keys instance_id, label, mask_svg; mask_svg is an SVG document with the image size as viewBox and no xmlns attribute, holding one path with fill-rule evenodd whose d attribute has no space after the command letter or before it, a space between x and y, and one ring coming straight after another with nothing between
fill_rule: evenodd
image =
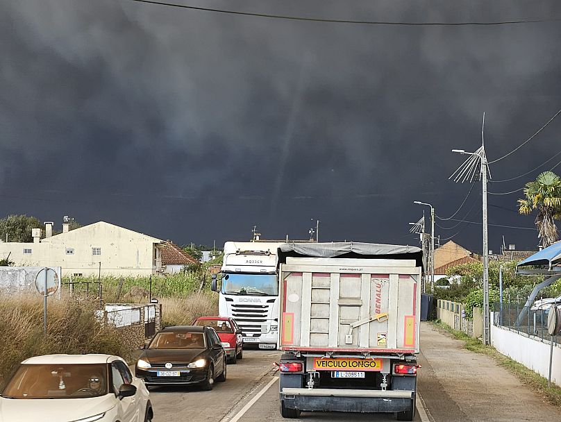
<instances>
[{"instance_id":1,"label":"topmost overhead wire crossing the dark sky near the photo's top edge","mask_svg":"<svg viewBox=\"0 0 561 422\"><path fill-rule=\"evenodd\" d=\"M135 1L137 3L155 4L158 6L169 6L174 8L183 8L190 10L199 10L203 12L216 12L225 13L228 15L242 15L253 17L267 17L269 19L285 19L294 21L308 21L308 22L330 22L334 24L360 24L360 25L387 25L387 26L492 26L492 25L512 25L512 24L537 24L545 22L561 22L561 19L516 19L511 21L493 21L493 22L400 22L400 21L360 21L353 19L326 19L319 17L303 17L303 16L290 16L290 15L271 15L269 13L253 13L253 12L240 12L237 10L224 10L215 8L201 8L196 6L188 6L186 4L167 3L164 1L151 1L151 0L126 0Z\"/></svg>"}]
</instances>

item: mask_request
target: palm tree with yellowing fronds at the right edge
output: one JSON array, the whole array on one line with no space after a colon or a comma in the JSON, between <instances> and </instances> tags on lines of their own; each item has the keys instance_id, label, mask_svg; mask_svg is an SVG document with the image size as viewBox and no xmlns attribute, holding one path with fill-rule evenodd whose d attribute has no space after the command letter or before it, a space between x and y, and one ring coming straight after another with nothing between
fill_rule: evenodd
<instances>
[{"instance_id":1,"label":"palm tree with yellowing fronds at the right edge","mask_svg":"<svg viewBox=\"0 0 561 422\"><path fill-rule=\"evenodd\" d=\"M561 178L553 171L544 171L536 180L526 183L523 192L526 198L518 200L519 213L537 210L537 236L545 248L559 238L554 220L561 219Z\"/></svg>"}]
</instances>

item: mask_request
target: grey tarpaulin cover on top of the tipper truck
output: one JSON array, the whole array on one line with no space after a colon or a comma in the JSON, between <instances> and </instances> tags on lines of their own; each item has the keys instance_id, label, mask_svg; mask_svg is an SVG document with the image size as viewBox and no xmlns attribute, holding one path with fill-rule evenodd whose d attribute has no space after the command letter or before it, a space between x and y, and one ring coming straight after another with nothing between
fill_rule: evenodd
<instances>
[{"instance_id":1,"label":"grey tarpaulin cover on top of the tipper truck","mask_svg":"<svg viewBox=\"0 0 561 422\"><path fill-rule=\"evenodd\" d=\"M314 258L396 258L417 260L421 267L423 253L417 246L360 242L286 243L281 255Z\"/></svg>"}]
</instances>

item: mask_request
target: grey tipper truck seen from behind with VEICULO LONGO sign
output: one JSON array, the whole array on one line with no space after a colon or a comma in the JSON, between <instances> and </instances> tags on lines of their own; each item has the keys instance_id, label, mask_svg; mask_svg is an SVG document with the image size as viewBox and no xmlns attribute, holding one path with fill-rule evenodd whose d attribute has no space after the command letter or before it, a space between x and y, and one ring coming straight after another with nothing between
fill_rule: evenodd
<instances>
[{"instance_id":1,"label":"grey tipper truck seen from behind with VEICULO LONGO sign","mask_svg":"<svg viewBox=\"0 0 561 422\"><path fill-rule=\"evenodd\" d=\"M281 414L415 416L422 252L365 243L280 247Z\"/></svg>"}]
</instances>

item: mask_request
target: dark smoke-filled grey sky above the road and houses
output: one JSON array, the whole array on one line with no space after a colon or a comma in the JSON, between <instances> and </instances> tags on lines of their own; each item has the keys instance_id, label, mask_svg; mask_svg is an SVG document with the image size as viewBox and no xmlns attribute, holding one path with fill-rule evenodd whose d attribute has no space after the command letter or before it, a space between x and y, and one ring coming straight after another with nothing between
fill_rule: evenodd
<instances>
[{"instance_id":1,"label":"dark smoke-filled grey sky above the road and houses","mask_svg":"<svg viewBox=\"0 0 561 422\"><path fill-rule=\"evenodd\" d=\"M178 0L181 3L181 0ZM246 12L402 22L561 19L561 2L184 1ZM131 0L0 3L0 216L108 221L178 244L251 237L418 244L410 221L449 217L489 160L561 108L561 23L385 26L296 22ZM561 151L561 117L495 180ZM493 182L510 192L551 169ZM561 172L561 165L555 169ZM489 195L489 223L533 227L521 192ZM481 220L476 182L454 218ZM471 210L471 211L470 211ZM427 219L428 220L428 219ZM481 226L436 235L481 250ZM458 233L459 232L459 233ZM491 226L535 248L535 230Z\"/></svg>"}]
</instances>

